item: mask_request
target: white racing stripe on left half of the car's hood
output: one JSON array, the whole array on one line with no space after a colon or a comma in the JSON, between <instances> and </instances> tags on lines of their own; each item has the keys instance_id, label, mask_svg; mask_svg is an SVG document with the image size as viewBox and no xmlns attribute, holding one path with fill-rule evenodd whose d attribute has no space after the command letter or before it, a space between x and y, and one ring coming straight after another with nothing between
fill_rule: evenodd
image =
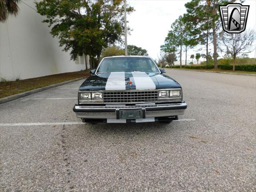
<instances>
[{"instance_id":1,"label":"white racing stripe on left half of the car's hood","mask_svg":"<svg viewBox=\"0 0 256 192\"><path fill-rule=\"evenodd\" d=\"M124 72L111 72L107 83L106 90L125 90Z\"/></svg>"}]
</instances>

